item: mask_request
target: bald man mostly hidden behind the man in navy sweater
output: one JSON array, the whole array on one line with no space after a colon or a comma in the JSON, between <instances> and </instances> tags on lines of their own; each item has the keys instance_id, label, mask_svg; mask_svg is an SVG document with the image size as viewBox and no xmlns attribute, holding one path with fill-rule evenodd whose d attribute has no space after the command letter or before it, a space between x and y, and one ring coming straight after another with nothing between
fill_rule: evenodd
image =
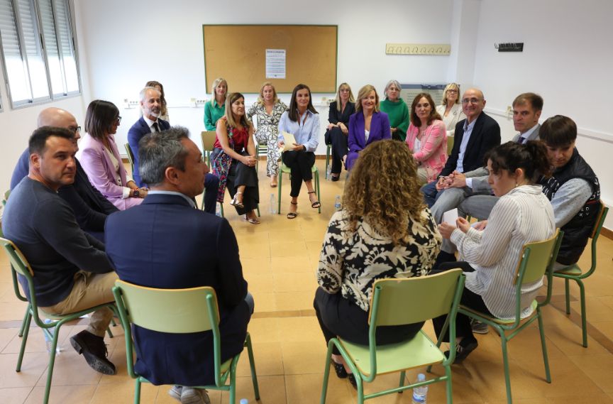
<instances>
[{"instance_id":1,"label":"bald man mostly hidden behind the man in navy sweater","mask_svg":"<svg viewBox=\"0 0 613 404\"><path fill-rule=\"evenodd\" d=\"M74 133L75 145L81 137L79 133L81 127L77 124L77 119L64 109L50 107L40 111L40 114L38 114L38 127L42 126L56 126L70 130ZM11 190L28 175L29 160L30 153L26 148L26 151L19 157L15 170L13 170ZM104 241L104 222L106 221L106 216L117 212L117 208L92 186L78 160L74 183L60 187L57 193L74 211L74 217L77 219L79 227L96 237L96 239Z\"/></svg>"}]
</instances>

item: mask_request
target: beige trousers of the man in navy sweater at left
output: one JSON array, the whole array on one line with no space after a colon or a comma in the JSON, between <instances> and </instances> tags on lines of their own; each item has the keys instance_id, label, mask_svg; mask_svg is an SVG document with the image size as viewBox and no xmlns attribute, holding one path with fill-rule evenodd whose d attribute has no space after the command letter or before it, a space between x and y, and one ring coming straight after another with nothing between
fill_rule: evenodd
<instances>
[{"instance_id":1,"label":"beige trousers of the man in navy sweater at left","mask_svg":"<svg viewBox=\"0 0 613 404\"><path fill-rule=\"evenodd\" d=\"M70 295L56 305L40 307L40 309L50 314L64 315L112 302L115 300L112 288L115 285L115 280L118 278L114 272L92 273L79 271L74 274L74 285ZM89 316L87 331L98 337L104 337L104 332L109 328L113 318L113 310L109 309L109 307L104 307L101 310L96 310Z\"/></svg>"}]
</instances>

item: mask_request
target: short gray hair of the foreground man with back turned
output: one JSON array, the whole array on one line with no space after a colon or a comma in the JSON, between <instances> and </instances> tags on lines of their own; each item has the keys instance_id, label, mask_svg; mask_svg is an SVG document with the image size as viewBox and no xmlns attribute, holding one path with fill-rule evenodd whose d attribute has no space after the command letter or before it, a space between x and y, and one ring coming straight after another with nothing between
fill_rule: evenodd
<instances>
[{"instance_id":1,"label":"short gray hair of the foreground man with back turned","mask_svg":"<svg viewBox=\"0 0 613 404\"><path fill-rule=\"evenodd\" d=\"M185 158L189 151L181 143L189 138L189 130L174 126L167 131L148 133L138 142L140 177L148 185L160 185L169 167L185 170Z\"/></svg>"}]
</instances>

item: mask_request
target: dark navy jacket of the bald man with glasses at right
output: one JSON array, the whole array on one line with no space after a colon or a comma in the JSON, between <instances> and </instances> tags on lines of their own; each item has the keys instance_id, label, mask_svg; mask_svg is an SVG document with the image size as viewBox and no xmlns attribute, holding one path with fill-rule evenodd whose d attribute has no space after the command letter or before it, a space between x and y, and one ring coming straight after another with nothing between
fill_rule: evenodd
<instances>
[{"instance_id":1,"label":"dark navy jacket of the bald man with glasses at right","mask_svg":"<svg viewBox=\"0 0 613 404\"><path fill-rule=\"evenodd\" d=\"M466 119L463 119L455 125L453 149L440 175L449 175L453 173L453 170L458 166L458 156L460 154L462 137L464 136L465 121ZM475 121L475 126L473 126L473 132L470 133L470 139L466 146L464 159L462 161L463 172L467 173L468 171L483 167L485 153L491 148L499 146L499 144L500 126L498 126L498 122L490 116L487 116L485 112L481 112L481 114L477 116L477 121Z\"/></svg>"}]
</instances>

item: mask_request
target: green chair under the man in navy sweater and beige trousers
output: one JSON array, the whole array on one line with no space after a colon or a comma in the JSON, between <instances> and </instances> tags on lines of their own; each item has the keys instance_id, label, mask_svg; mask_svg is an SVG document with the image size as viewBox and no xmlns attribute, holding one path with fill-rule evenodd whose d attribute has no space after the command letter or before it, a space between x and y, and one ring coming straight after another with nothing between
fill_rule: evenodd
<instances>
[{"instance_id":1,"label":"green chair under the man in navy sweater and beige trousers","mask_svg":"<svg viewBox=\"0 0 613 404\"><path fill-rule=\"evenodd\" d=\"M15 292L18 300L22 302L28 302L25 296L21 294L21 290L19 290L19 283L17 280L17 273L23 275L26 280L28 280L28 290L30 293L30 301L28 302L28 307L26 308L26 315L23 316L23 321L21 322L21 328L19 329L19 337L21 339L21 349L19 350L19 356L17 359L17 367L15 371L21 371L21 361L23 360L23 353L26 351L26 341L28 340L28 332L30 331L30 323L31 320L34 319L34 322L40 329L43 330L45 336L48 339L51 339L51 347L49 352L49 368L47 372L47 383L45 384L45 396L43 398L43 404L47 404L49 402L49 393L51 390L51 379L53 378L53 365L55 364L55 350L57 349L57 339L60 336L60 327L66 322L70 322L72 320L77 320L79 317L83 315L87 315L91 312L95 312L103 307L109 307L109 309L113 310L116 313L115 302L104 303L104 305L97 305L94 307L90 307L87 310L81 310L79 312L70 313L67 315L52 315L43 310L40 310L38 305L36 304L36 295L34 293L34 273L26 257L23 256L23 253L19 251L17 246L13 244L13 241L8 239L0 238L0 244L4 248L6 255L9 257L9 261L11 262L11 275L13 277L13 290ZM41 312L47 317L49 320L54 320L49 323L43 322L40 320L38 313ZM55 329L53 329L55 327ZM109 337L113 337L110 329L107 329L109 333Z\"/></svg>"}]
</instances>

